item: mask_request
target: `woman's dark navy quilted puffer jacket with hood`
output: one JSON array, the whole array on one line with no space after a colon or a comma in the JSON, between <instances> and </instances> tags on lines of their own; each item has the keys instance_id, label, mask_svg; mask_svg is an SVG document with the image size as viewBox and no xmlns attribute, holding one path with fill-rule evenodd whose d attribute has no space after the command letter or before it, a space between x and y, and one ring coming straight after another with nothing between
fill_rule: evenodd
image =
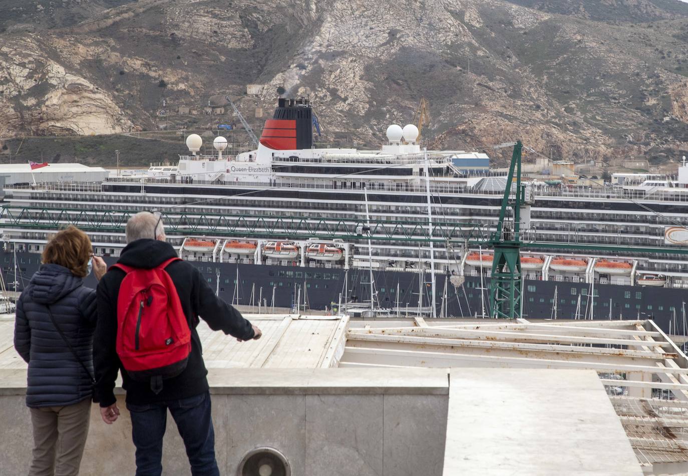
<instances>
[{"instance_id":1,"label":"woman's dark navy quilted puffer jacket with hood","mask_svg":"<svg viewBox=\"0 0 688 476\"><path fill-rule=\"evenodd\" d=\"M96 291L56 264L44 264L17 301L14 348L29 364L26 404L62 407L91 398L91 380L55 329L46 305L93 375Z\"/></svg>"}]
</instances>

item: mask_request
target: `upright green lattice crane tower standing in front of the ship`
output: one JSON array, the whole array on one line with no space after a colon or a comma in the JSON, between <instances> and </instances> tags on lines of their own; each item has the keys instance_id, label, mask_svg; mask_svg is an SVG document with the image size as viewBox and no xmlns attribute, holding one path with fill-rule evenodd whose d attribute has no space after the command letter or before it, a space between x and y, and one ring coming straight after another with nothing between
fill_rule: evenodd
<instances>
[{"instance_id":1,"label":"upright green lattice crane tower standing in front of the ship","mask_svg":"<svg viewBox=\"0 0 688 476\"><path fill-rule=\"evenodd\" d=\"M521 184L521 150L519 140L514 146L509 173L506 177L502 208L499 210L497 230L488 246L495 250L490 281L490 316L515 319L522 314L522 283L520 237L521 208L526 205L526 186ZM515 178L515 194L511 198ZM529 197L528 197L529 198ZM513 208L513 230L504 225L506 210Z\"/></svg>"}]
</instances>

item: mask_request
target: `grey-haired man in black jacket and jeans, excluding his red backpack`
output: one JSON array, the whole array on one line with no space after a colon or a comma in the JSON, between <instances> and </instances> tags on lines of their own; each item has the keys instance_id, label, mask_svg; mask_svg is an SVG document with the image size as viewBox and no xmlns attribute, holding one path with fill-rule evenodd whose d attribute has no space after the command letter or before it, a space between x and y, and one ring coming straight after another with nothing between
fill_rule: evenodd
<instances>
[{"instance_id":1,"label":"grey-haired man in black jacket and jeans, excluding his red backpack","mask_svg":"<svg viewBox=\"0 0 688 476\"><path fill-rule=\"evenodd\" d=\"M153 239L155 238L155 239ZM127 246L118 265L153 269L177 257L165 242L162 220L142 212L127 222ZM191 352L181 374L162 380L162 389L152 382L134 380L127 374L116 353L118 332L117 303L124 270L111 268L100 280L97 290L98 323L94 336L96 401L100 402L103 421L112 424L119 415L113 393L117 373L122 371L122 387L127 391L127 409L131 414L131 433L136 446L136 475L159 476L162 473L162 437L166 414L172 418L186 446L191 473L219 475L215 461L215 434L208 393L208 371L201 355L196 332L198 316L213 330L222 330L241 342L257 339L261 331L246 321L237 310L215 296L202 274L186 261L172 261L164 268L179 296L184 316L191 329ZM143 307L143 305L142 305Z\"/></svg>"}]
</instances>

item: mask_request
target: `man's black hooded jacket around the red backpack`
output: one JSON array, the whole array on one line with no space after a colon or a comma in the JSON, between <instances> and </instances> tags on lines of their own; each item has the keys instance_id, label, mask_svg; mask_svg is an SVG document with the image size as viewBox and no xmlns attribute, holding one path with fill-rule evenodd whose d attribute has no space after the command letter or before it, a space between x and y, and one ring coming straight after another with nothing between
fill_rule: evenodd
<instances>
[{"instance_id":1,"label":"man's black hooded jacket around the red backpack","mask_svg":"<svg viewBox=\"0 0 688 476\"><path fill-rule=\"evenodd\" d=\"M138 239L122 250L118 263L134 268L155 268L176 257L174 248L164 241ZM122 387L127 391L127 402L149 404L166 400L180 400L208 390L208 371L203 362L201 341L196 332L199 316L213 330L222 330L237 338L253 337L251 323L222 299L208 285L203 275L186 261L173 261L166 268L177 294L179 294L186 320L191 328L191 354L186 369L179 376L164 380L162 391L153 393L149 382L132 380L122 368L116 353L117 298L125 272L111 268L98 283L98 325L94 338L96 366L96 400L100 407L108 407L116 399L113 393L117 373L122 371Z\"/></svg>"}]
</instances>

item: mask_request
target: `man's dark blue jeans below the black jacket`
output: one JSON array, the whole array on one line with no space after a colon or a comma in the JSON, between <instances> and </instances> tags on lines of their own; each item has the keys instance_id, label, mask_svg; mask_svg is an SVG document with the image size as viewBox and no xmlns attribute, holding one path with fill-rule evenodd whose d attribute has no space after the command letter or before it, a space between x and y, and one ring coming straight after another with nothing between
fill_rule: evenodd
<instances>
[{"instance_id":1,"label":"man's dark blue jeans below the black jacket","mask_svg":"<svg viewBox=\"0 0 688 476\"><path fill-rule=\"evenodd\" d=\"M127 404L131 414L131 435L136 446L136 476L162 474L162 437L167 409L177 424L186 446L193 476L219 476L215 461L215 431L211 420L210 393L184 400L147 405Z\"/></svg>"}]
</instances>

